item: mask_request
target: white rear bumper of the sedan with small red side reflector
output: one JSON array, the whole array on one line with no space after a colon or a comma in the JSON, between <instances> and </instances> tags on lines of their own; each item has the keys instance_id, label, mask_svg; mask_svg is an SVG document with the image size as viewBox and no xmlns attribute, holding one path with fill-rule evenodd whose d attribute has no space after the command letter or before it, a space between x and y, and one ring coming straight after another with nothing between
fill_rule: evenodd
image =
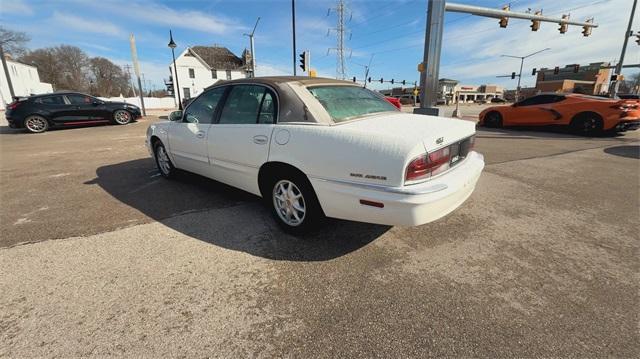
<instances>
[{"instance_id":1,"label":"white rear bumper of the sedan with small red side reflector","mask_svg":"<svg viewBox=\"0 0 640 359\"><path fill-rule=\"evenodd\" d=\"M328 217L385 225L417 226L458 208L473 192L484 157L471 152L456 168L425 183L404 187L369 186L310 178ZM374 207L361 200L382 204Z\"/></svg>"}]
</instances>

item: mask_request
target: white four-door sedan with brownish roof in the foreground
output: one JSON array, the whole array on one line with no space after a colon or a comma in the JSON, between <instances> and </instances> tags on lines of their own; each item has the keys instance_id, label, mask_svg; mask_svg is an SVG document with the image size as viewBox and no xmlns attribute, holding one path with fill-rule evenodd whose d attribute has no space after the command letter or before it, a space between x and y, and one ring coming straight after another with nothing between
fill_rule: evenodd
<instances>
[{"instance_id":1,"label":"white four-door sedan with brownish roof in the foreground","mask_svg":"<svg viewBox=\"0 0 640 359\"><path fill-rule=\"evenodd\" d=\"M228 81L147 130L162 176L194 172L261 196L302 232L324 216L415 226L459 207L484 167L475 124L406 114L353 83Z\"/></svg>"}]
</instances>

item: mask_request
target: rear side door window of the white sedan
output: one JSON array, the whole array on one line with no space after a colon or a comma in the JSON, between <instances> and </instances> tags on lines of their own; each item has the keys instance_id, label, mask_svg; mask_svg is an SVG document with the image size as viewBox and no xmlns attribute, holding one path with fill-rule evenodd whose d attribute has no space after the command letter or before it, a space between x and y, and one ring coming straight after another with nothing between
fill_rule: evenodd
<instances>
[{"instance_id":1,"label":"rear side door window of the white sedan","mask_svg":"<svg viewBox=\"0 0 640 359\"><path fill-rule=\"evenodd\" d=\"M274 123L276 108L275 96L266 87L236 85L229 92L219 123Z\"/></svg>"}]
</instances>

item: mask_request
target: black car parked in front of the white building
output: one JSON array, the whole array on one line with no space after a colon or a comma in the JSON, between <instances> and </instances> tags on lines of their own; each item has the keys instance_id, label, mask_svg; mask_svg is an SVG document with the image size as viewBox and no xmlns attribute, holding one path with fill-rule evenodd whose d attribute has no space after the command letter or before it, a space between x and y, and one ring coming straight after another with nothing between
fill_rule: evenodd
<instances>
[{"instance_id":1,"label":"black car parked in front of the white building","mask_svg":"<svg viewBox=\"0 0 640 359\"><path fill-rule=\"evenodd\" d=\"M51 127L92 123L126 125L141 117L138 106L124 102L102 101L77 92L57 92L17 98L7 105L9 126L40 133Z\"/></svg>"}]
</instances>

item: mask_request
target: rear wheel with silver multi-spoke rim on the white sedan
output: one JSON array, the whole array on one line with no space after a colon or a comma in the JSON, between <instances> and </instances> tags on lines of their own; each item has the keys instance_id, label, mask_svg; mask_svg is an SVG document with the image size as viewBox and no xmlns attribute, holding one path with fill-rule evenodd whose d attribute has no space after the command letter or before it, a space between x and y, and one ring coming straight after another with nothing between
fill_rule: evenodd
<instances>
[{"instance_id":1,"label":"rear wheel with silver multi-spoke rim on the white sedan","mask_svg":"<svg viewBox=\"0 0 640 359\"><path fill-rule=\"evenodd\" d=\"M289 171L271 178L264 199L278 225L287 233L304 234L325 219L311 183L301 173Z\"/></svg>"}]
</instances>

